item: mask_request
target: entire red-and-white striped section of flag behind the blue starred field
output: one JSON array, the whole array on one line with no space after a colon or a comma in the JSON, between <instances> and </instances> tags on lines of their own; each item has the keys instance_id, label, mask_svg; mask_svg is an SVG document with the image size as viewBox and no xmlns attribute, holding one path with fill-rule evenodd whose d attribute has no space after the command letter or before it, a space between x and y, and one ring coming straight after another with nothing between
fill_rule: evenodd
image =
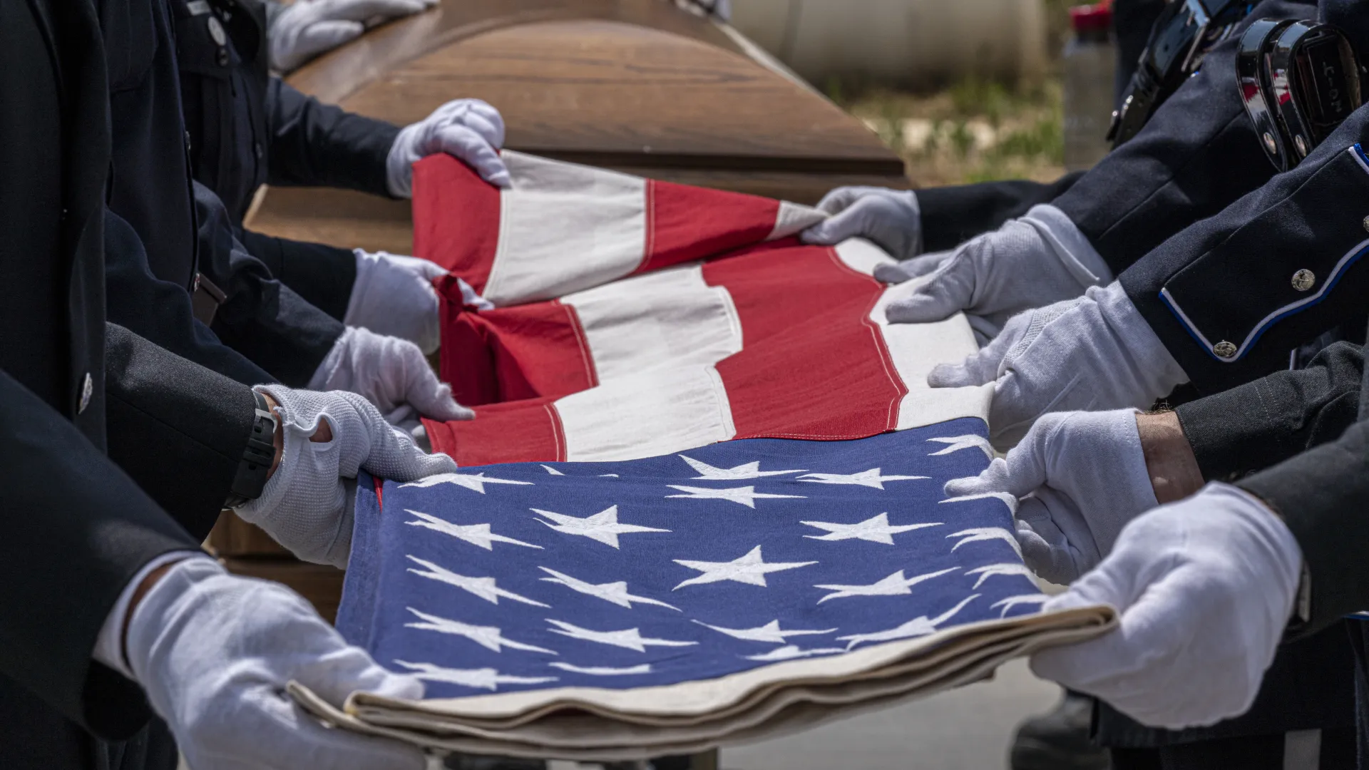
<instances>
[{"instance_id":1,"label":"entire red-and-white striped section of flag behind the blue starred field","mask_svg":"<svg viewBox=\"0 0 1369 770\"><path fill-rule=\"evenodd\" d=\"M867 241L799 244L816 210L505 159L508 190L446 156L415 169L418 253L453 271L442 380L478 415L424 426L460 464L858 438L987 410L988 386L927 388L975 351L964 316L887 323L912 286L875 281L893 259Z\"/></svg>"}]
</instances>

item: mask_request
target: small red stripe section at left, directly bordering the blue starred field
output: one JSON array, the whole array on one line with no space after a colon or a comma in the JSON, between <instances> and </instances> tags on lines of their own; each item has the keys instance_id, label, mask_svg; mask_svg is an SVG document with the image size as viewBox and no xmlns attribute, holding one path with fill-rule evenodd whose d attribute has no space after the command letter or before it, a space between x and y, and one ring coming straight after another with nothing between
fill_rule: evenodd
<instances>
[{"instance_id":1,"label":"small red stripe section at left, directly bordering the blue starred field","mask_svg":"<svg viewBox=\"0 0 1369 770\"><path fill-rule=\"evenodd\" d=\"M456 464L483 466L565 459L565 433L554 399L489 404L475 410L475 419L435 422L423 419L434 452L452 455Z\"/></svg>"}]
</instances>

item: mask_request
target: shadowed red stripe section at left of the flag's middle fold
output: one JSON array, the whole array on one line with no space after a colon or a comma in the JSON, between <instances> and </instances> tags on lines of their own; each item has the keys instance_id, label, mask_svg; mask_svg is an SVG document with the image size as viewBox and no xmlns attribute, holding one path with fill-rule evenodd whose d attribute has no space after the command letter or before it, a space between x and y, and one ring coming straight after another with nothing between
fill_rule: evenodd
<instances>
[{"instance_id":1,"label":"shadowed red stripe section at left of the flag's middle fold","mask_svg":"<svg viewBox=\"0 0 1369 770\"><path fill-rule=\"evenodd\" d=\"M465 406L560 397L598 385L579 315L560 300L464 310L444 319L441 370Z\"/></svg>"}]
</instances>

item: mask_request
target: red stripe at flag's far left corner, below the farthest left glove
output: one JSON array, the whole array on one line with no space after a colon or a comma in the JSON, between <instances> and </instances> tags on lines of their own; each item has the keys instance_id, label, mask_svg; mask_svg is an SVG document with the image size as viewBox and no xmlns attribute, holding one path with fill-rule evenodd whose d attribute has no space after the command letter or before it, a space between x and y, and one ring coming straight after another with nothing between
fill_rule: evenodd
<instances>
[{"instance_id":1,"label":"red stripe at flag's far left corner, below the farthest left glove","mask_svg":"<svg viewBox=\"0 0 1369 770\"><path fill-rule=\"evenodd\" d=\"M485 289L500 245L500 189L439 152L413 164L413 253Z\"/></svg>"}]
</instances>

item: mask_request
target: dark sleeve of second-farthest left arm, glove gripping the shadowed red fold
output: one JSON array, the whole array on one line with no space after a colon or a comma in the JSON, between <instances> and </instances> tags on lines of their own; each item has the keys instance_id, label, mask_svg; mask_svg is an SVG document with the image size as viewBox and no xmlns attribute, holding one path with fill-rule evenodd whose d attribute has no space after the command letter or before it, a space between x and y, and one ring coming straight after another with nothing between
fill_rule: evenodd
<instances>
[{"instance_id":1,"label":"dark sleeve of second-farthest left arm, glove gripping the shadowed red fold","mask_svg":"<svg viewBox=\"0 0 1369 770\"><path fill-rule=\"evenodd\" d=\"M352 249L308 244L238 229L238 241L261 260L271 275L300 295L304 301L342 321L356 284L356 255Z\"/></svg>"}]
</instances>

